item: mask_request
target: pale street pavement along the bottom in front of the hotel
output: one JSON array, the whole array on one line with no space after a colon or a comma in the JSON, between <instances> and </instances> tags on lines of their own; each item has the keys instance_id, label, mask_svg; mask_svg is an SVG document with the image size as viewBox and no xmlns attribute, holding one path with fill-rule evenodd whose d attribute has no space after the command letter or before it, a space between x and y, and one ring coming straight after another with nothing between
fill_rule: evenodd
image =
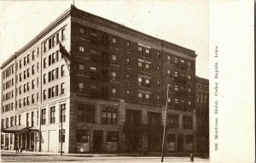
<instances>
[{"instance_id":1,"label":"pale street pavement along the bottom in front of the hotel","mask_svg":"<svg viewBox=\"0 0 256 163\"><path fill-rule=\"evenodd\" d=\"M157 156L122 155L69 155L33 154L1 151L1 162L160 162ZM209 162L208 159L195 157L195 162ZM164 162L190 162L189 157L168 156Z\"/></svg>"}]
</instances>

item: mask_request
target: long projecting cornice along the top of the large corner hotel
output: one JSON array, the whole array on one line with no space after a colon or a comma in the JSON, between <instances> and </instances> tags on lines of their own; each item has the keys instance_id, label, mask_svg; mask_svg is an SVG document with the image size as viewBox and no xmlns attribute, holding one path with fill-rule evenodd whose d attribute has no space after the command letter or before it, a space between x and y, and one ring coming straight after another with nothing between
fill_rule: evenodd
<instances>
[{"instance_id":1,"label":"long projecting cornice along the top of the large corner hotel","mask_svg":"<svg viewBox=\"0 0 256 163\"><path fill-rule=\"evenodd\" d=\"M7 59L6 61L3 62L3 64L1 65L0 69L2 70L3 67L5 67L6 65L8 65L13 59L15 59L15 57L18 57L20 54L24 53L27 48L31 48L36 42L38 42L38 40L40 40L42 37L44 37L49 31L52 31L56 25L59 25L61 23L61 21L64 21L66 20L65 18L68 18L71 14L75 14L75 12L82 12L84 14L84 16L86 17L90 17L90 18L94 18L96 20L102 20L104 22L107 22L108 23L108 26L116 26L118 28L116 29L119 29L123 32L129 32L129 34L131 35L135 35L135 34L139 34L141 37L145 37L145 39L148 39L149 41L151 42L154 42L154 43L158 43L160 45L162 45L163 47L165 48L172 48L173 50L177 51L177 52L182 52L182 53L185 53L185 54L188 54L192 57L195 57L197 56L197 54L195 54L195 51L194 50L191 50L189 48L183 48L182 46L179 46L177 44L174 44L172 42L166 42L165 40L161 40L157 37L152 37L148 34L145 34L141 31L136 31L134 29L131 29L129 27L126 27L125 25L120 25L116 22L113 22L111 20L107 20L105 18L102 18L100 16L97 16L95 14L90 14L88 12L85 12L79 8L76 8L73 4L71 5L70 8L68 8L63 14L61 14L57 19L55 19L52 23L50 23L48 26L46 26L46 28L44 28L43 31L39 32L38 36L34 37L32 39L32 41L26 43L25 46L23 46L22 48L20 48L20 50L18 50L17 52L15 52L14 54L12 54L9 59ZM73 15L72 15L73 16Z\"/></svg>"}]
</instances>

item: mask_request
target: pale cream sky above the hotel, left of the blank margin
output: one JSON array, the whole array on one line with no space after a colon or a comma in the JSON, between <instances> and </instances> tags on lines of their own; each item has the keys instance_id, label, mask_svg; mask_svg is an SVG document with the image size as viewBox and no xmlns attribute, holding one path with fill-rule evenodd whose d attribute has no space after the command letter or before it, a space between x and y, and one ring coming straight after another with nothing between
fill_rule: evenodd
<instances>
[{"instance_id":1,"label":"pale cream sky above the hotel, left of the blank margin","mask_svg":"<svg viewBox=\"0 0 256 163\"><path fill-rule=\"evenodd\" d=\"M0 64L60 16L68 1L0 1ZM208 78L208 1L78 1L79 9L195 50L196 76Z\"/></svg>"}]
</instances>

